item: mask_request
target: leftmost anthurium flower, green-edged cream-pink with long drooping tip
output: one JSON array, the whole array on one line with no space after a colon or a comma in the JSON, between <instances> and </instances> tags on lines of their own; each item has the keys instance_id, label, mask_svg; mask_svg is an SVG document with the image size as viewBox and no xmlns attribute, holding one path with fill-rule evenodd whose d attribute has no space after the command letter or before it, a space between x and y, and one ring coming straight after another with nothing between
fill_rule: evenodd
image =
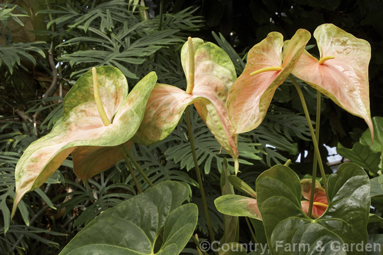
<instances>
[{"instance_id":1,"label":"leftmost anthurium flower, green-edged cream-pink with long drooping tip","mask_svg":"<svg viewBox=\"0 0 383 255\"><path fill-rule=\"evenodd\" d=\"M75 173L86 181L122 158L118 145L129 146L157 76L148 74L128 94L128 83L119 69L101 66L95 71L97 76L89 71L78 79L65 96L63 115L52 131L33 142L20 157L15 169L12 217L22 196L40 187L70 153ZM100 84L98 93L93 92L93 77ZM95 95L101 101L95 100ZM110 125L104 125L97 102L103 104L104 118Z\"/></svg>"}]
</instances>

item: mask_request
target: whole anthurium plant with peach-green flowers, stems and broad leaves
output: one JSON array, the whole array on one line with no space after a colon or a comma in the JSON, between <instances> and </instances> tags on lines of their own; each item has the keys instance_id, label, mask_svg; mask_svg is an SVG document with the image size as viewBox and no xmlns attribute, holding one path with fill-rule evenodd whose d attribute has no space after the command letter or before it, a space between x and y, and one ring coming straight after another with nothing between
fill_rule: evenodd
<instances>
[{"instance_id":1,"label":"whole anthurium plant with peach-green flowers, stems and broad leaves","mask_svg":"<svg viewBox=\"0 0 383 255\"><path fill-rule=\"evenodd\" d=\"M225 233L221 241L242 247L237 243L241 231L239 217L245 217L251 233L249 239L267 243L271 254L367 254L366 249L337 250L333 244L336 242L341 247L368 244L368 222L383 222L379 216L369 215L370 180L366 172L373 172L378 178L371 187L380 187L381 163L379 168L379 161L374 163L375 170L368 169L371 164L345 163L326 175L318 129L322 93L366 121L369 131L361 138L364 146L380 146L379 141L374 141L374 128L377 129L380 119L371 119L369 106L370 45L332 24L324 24L314 31L320 52L318 59L305 50L310 37L304 29L288 40L283 40L278 32L271 32L251 48L246 67L238 78L224 50L214 43L189 37L181 49L186 90L156 83L157 76L152 72L128 92L126 78L117 68L92 68L66 95L62 118L52 131L32 143L18 161L12 217L22 196L40 187L69 154L74 161L74 172L85 185L89 178L124 158L140 194L103 212L60 254L179 254L189 239L197 246L198 254L208 254L194 235L198 210L195 204L184 203L188 200L188 190L176 181L154 185L130 152L134 143L149 146L170 135L186 110L188 140L210 248L216 254L234 254L225 251L221 242L214 243L216 233L211 226L189 118L188 107L194 105L221 149L234 161L234 171L230 173L228 161L224 160L222 193L214 201L224 215ZM293 75L318 91L316 130ZM298 91L312 135L315 148L312 179L298 176L294 164L288 160L254 179L254 190L251 188L254 183L247 184L241 179L238 135L261 124L276 89L286 79ZM375 152L374 156L381 156ZM141 191L130 161L151 188ZM317 166L321 178L317 177ZM371 194L379 197L383 192ZM292 248L295 245L303 245L307 250L295 250ZM242 248L236 252L246 254Z\"/></svg>"}]
</instances>

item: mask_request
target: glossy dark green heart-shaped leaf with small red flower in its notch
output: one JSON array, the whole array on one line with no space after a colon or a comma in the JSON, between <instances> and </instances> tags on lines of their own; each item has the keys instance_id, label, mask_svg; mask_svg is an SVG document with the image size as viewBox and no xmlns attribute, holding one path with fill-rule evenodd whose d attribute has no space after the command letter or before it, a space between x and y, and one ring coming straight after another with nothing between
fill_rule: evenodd
<instances>
[{"instance_id":1,"label":"glossy dark green heart-shaped leaf with small red flower in its notch","mask_svg":"<svg viewBox=\"0 0 383 255\"><path fill-rule=\"evenodd\" d=\"M283 249L286 244L292 246L294 243L309 244L307 254L346 254L331 250L331 242L350 245L368 241L370 181L357 165L342 164L329 176L329 205L315 220L302 211L299 177L289 167L277 165L265 171L257 178L256 187L258 207L272 254L296 254ZM283 242L282 248L278 242ZM318 245L324 247L322 253L316 250ZM350 251L347 254L365 252Z\"/></svg>"}]
</instances>

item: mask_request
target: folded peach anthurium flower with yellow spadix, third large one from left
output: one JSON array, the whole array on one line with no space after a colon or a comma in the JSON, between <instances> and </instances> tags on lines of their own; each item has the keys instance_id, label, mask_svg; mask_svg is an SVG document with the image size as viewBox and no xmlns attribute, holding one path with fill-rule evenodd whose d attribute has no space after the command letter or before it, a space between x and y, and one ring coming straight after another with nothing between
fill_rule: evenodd
<instances>
[{"instance_id":1,"label":"folded peach anthurium flower with yellow spadix, third large one from left","mask_svg":"<svg viewBox=\"0 0 383 255\"><path fill-rule=\"evenodd\" d=\"M264 120L275 90L289 76L309 39L304 29L285 43L280 33L271 32L249 51L244 72L226 102L235 134L253 130Z\"/></svg>"}]
</instances>

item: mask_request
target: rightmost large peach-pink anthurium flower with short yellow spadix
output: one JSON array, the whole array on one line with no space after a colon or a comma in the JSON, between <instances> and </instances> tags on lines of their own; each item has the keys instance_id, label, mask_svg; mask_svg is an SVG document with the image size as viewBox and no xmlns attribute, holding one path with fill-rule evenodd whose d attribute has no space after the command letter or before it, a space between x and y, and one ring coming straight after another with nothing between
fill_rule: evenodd
<instances>
[{"instance_id":1,"label":"rightmost large peach-pink anthurium flower with short yellow spadix","mask_svg":"<svg viewBox=\"0 0 383 255\"><path fill-rule=\"evenodd\" d=\"M292 73L346 111L363 118L373 137L368 84L370 44L333 24L320 25L314 37L320 59L304 51Z\"/></svg>"}]
</instances>

